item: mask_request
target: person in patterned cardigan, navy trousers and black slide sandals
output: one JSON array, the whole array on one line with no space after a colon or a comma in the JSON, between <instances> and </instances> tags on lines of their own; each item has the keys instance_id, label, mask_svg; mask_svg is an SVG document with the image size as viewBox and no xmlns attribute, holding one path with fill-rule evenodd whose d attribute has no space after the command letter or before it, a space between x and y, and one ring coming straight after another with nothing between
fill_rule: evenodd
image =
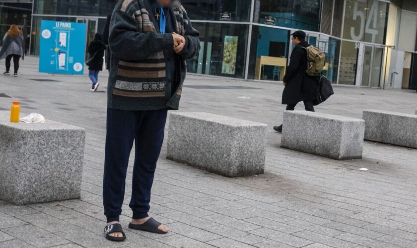
<instances>
[{"instance_id":1,"label":"person in patterned cardigan, navy trousers and black slide sandals","mask_svg":"<svg viewBox=\"0 0 417 248\"><path fill-rule=\"evenodd\" d=\"M126 171L135 142L129 228L165 234L148 215L168 110L177 110L185 60L200 51L199 32L175 0L119 0L112 14L103 205L104 236L126 239L119 224Z\"/></svg>"}]
</instances>

